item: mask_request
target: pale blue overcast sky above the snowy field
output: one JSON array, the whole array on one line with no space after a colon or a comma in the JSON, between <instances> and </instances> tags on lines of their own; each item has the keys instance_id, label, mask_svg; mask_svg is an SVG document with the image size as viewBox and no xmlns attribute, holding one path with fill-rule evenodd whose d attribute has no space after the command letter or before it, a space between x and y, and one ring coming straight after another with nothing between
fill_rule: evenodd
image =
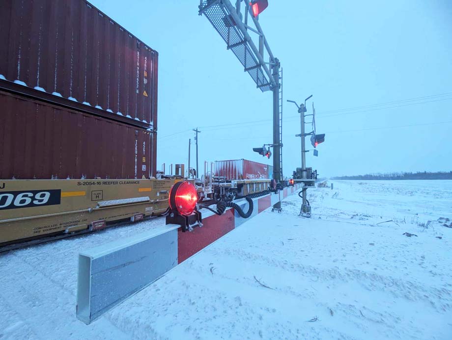
<instances>
[{"instance_id":1,"label":"pale blue overcast sky above the snowy field","mask_svg":"<svg viewBox=\"0 0 452 340\"><path fill-rule=\"evenodd\" d=\"M187 164L197 126L200 168L272 164L252 151L272 142L271 92L198 16L198 0L91 2L159 52L158 168ZM299 115L286 99L311 94L326 137L307 165L320 176L452 170L452 1L269 0L259 23L283 68L285 176L301 166Z\"/></svg>"}]
</instances>

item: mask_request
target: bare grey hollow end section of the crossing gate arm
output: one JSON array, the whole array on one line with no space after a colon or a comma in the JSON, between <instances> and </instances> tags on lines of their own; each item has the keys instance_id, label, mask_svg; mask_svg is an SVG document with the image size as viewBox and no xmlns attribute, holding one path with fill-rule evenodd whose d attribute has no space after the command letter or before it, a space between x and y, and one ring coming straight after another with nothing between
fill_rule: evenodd
<instances>
[{"instance_id":1,"label":"bare grey hollow end section of the crossing gate arm","mask_svg":"<svg viewBox=\"0 0 452 340\"><path fill-rule=\"evenodd\" d=\"M91 323L177 265L177 228L167 225L79 254L77 318Z\"/></svg>"}]
</instances>

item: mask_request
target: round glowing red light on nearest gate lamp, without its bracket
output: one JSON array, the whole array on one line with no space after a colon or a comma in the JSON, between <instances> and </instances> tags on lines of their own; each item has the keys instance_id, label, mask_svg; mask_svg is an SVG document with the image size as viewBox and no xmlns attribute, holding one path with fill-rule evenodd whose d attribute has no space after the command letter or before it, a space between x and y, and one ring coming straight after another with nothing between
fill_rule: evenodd
<instances>
[{"instance_id":1,"label":"round glowing red light on nearest gate lamp, without its bracket","mask_svg":"<svg viewBox=\"0 0 452 340\"><path fill-rule=\"evenodd\" d=\"M180 215L189 216L195 210L198 193L191 182L178 182L169 191L169 208L177 210Z\"/></svg>"}]
</instances>

